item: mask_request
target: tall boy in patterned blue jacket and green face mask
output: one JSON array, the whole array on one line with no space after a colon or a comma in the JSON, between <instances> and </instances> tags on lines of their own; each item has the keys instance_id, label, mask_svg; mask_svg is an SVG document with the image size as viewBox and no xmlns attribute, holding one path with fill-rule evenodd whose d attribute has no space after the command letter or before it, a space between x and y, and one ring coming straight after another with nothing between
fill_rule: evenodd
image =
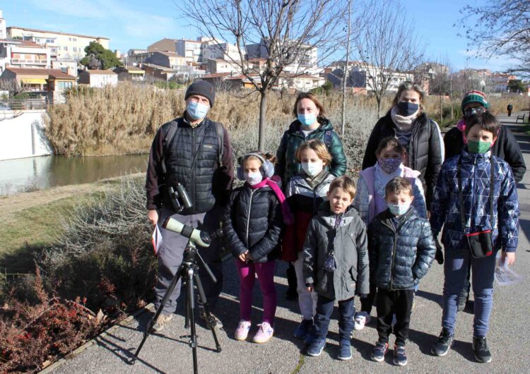
<instances>
[{"instance_id":1,"label":"tall boy in patterned blue jacket and green face mask","mask_svg":"<svg viewBox=\"0 0 530 374\"><path fill-rule=\"evenodd\" d=\"M442 165L435 188L430 223L437 236L442 226L445 246L442 332L432 354L444 356L454 339L457 301L471 262L475 310L473 350L479 362L490 362L486 343L493 308L495 257L515 260L519 202L510 165L491 155L500 123L493 114L473 116L466 124L467 145Z\"/></svg>"}]
</instances>

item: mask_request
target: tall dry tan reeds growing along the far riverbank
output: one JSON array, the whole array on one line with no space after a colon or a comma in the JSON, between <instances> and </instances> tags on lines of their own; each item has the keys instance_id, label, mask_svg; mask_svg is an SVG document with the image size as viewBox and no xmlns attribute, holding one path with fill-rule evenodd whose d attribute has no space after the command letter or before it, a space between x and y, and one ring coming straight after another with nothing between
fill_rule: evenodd
<instances>
[{"instance_id":1,"label":"tall dry tan reeds growing along the far riverbank","mask_svg":"<svg viewBox=\"0 0 530 374\"><path fill-rule=\"evenodd\" d=\"M391 95L384 98L382 108L390 107ZM341 95L330 92L320 95L327 116L337 132L341 121ZM452 103L458 109L459 98ZM526 101L525 101L526 100ZM266 148L276 150L281 133L293 121L295 95L271 92L266 110ZM514 110L525 107L525 97L491 97L492 111L503 113L508 102ZM444 105L450 107L448 100ZM425 107L433 119L440 113L439 97L428 97ZM365 95L351 95L347 99L346 143L352 143L352 152L364 150L367 134L377 121L375 99ZM116 87L93 90L72 90L65 104L49 108L46 135L54 152L60 155L116 155L147 152L153 135L161 124L174 119L184 111L184 90L168 90L153 85L120 83ZM447 113L447 112L446 112ZM454 113L459 116L458 110ZM212 119L223 123L235 142L236 155L257 147L259 95L237 97L218 92L216 104L210 112ZM444 114L447 118L447 114ZM240 144L239 144L240 143Z\"/></svg>"}]
</instances>

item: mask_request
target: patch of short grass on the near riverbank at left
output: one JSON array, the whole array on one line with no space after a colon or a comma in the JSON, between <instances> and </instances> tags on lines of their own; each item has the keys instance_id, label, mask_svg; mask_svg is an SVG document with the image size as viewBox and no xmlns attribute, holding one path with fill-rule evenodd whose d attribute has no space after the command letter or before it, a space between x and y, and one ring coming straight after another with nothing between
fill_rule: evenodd
<instances>
[{"instance_id":1,"label":"patch of short grass on the near riverbank at left","mask_svg":"<svg viewBox=\"0 0 530 374\"><path fill-rule=\"evenodd\" d=\"M92 195L100 193L69 196L0 219L0 272L33 272L34 255L61 240L64 219L76 205L88 203Z\"/></svg>"}]
</instances>

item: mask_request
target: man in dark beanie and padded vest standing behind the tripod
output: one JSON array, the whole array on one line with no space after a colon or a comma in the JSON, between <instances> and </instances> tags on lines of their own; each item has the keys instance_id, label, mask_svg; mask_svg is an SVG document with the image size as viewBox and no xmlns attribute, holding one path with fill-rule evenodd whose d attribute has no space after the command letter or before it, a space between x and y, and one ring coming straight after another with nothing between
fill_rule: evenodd
<instances>
[{"instance_id":1,"label":"man in dark beanie and padded vest standing behind the tripod","mask_svg":"<svg viewBox=\"0 0 530 374\"><path fill-rule=\"evenodd\" d=\"M219 227L223 207L230 197L234 171L228 132L206 116L215 98L216 92L210 83L199 80L189 85L184 96L184 114L160 126L151 145L146 176L147 217L153 226L158 223L163 239L158 248L156 308L182 263L188 241L186 237L164 229L162 223L172 217L189 227L214 231ZM182 211L177 211L167 192L168 188L176 191L177 183L184 186L192 202L192 207L184 207ZM213 283L200 268L199 275L212 312L223 287L219 250L218 240L208 248L199 248L218 281ZM153 327L155 332L160 332L171 320L179 294L180 282ZM200 303L199 316L204 319L204 308ZM217 318L216 322L217 327L223 326Z\"/></svg>"}]
</instances>

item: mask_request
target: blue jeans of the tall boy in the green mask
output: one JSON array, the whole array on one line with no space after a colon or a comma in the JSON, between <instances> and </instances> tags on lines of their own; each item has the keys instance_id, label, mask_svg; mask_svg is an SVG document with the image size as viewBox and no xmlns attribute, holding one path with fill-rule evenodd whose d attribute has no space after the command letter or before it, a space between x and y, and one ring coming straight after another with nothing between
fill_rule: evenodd
<instances>
[{"instance_id":1,"label":"blue jeans of the tall boy in the green mask","mask_svg":"<svg viewBox=\"0 0 530 374\"><path fill-rule=\"evenodd\" d=\"M473 258L469 248L445 251L442 327L449 331L449 334L453 334L454 323L457 320L458 298L464 288L470 262L471 284L475 299L473 336L485 337L493 307L495 253L484 258Z\"/></svg>"}]
</instances>

